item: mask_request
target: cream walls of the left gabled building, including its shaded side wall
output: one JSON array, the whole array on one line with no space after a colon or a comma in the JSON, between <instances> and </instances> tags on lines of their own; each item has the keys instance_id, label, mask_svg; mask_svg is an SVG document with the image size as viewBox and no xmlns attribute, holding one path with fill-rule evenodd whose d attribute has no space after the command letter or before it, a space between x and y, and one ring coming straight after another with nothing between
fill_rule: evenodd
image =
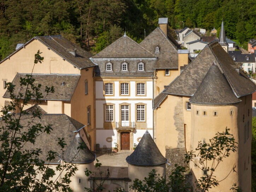
<instances>
[{"instance_id":1,"label":"cream walls of the left gabled building, including its shaded side wall","mask_svg":"<svg viewBox=\"0 0 256 192\"><path fill-rule=\"evenodd\" d=\"M40 50L41 56L44 57L43 62L34 66L35 53ZM93 67L87 69L78 69L67 60L63 59L59 54L45 46L39 40L34 39L27 43L23 48L17 50L6 60L0 63L0 80L3 82L12 82L17 73L31 74L34 66L33 74L79 74L75 92L71 101L60 100L43 100L39 106L49 114L66 114L78 122L86 125L86 131L91 138L91 150L95 149L96 131L94 128L94 88L93 88ZM88 82L88 94L85 94L85 81ZM4 95L6 89L0 86L0 95ZM0 97L0 107L3 107L7 98ZM27 109L35 104L30 101ZM91 111L91 120L88 124L87 108ZM18 110L17 110L18 112Z\"/></svg>"}]
</instances>

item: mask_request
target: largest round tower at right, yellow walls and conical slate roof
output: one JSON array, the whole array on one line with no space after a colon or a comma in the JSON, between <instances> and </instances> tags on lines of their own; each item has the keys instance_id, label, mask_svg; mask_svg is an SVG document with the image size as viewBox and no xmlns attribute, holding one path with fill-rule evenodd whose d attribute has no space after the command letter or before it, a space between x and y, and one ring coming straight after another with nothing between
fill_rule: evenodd
<instances>
[{"instance_id":1,"label":"largest round tower at right, yellow walls and conical slate roof","mask_svg":"<svg viewBox=\"0 0 256 192\"><path fill-rule=\"evenodd\" d=\"M190 150L195 151L199 141L209 143L209 139L213 138L217 132L225 131L226 127L238 142L237 151L231 152L231 155L223 159L214 171L216 180L220 181L219 186L209 191L229 191L234 183L245 187L245 178L248 179L247 185L250 186L251 173L245 168L250 167L248 165L250 146L246 144L246 138L249 138L249 135L247 135L247 128L246 133L244 131L244 126L249 126L247 123L250 117L245 116L250 116L247 114L250 106L242 101L245 97L250 95L240 98L236 96L219 66L213 63L196 93L190 98L192 122ZM194 161L200 165L199 157ZM190 168L194 181L205 174L192 162Z\"/></svg>"}]
</instances>

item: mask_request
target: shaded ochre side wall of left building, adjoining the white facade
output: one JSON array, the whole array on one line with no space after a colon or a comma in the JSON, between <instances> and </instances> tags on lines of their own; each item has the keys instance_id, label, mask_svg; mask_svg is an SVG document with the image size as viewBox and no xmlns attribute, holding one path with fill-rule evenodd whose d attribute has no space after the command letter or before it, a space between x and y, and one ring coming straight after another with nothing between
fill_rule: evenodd
<instances>
[{"instance_id":1,"label":"shaded ochre side wall of left building, adjoining the white facade","mask_svg":"<svg viewBox=\"0 0 256 192\"><path fill-rule=\"evenodd\" d=\"M85 81L88 81L88 94L85 94ZM92 151L96 147L96 131L94 127L94 85L93 68L81 70L81 77L71 99L71 117L86 125L91 136ZM87 125L87 107L91 106L91 124ZM64 108L65 109L65 108Z\"/></svg>"}]
</instances>

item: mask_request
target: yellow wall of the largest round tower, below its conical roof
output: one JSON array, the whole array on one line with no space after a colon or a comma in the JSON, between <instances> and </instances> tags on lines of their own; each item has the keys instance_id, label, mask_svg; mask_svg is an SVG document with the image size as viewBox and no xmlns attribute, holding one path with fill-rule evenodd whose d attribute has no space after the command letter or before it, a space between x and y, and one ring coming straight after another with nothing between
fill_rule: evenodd
<instances>
[{"instance_id":1,"label":"yellow wall of the largest round tower, below its conical roof","mask_svg":"<svg viewBox=\"0 0 256 192\"><path fill-rule=\"evenodd\" d=\"M243 191L251 191L251 95L246 96L247 103L245 104L245 97L242 102L236 105L228 106L203 106L191 105L192 113L192 128L191 128L191 150L194 150L198 141L206 139L209 142L217 132L222 132L225 128L230 128L230 133L233 134L235 141L238 142L237 152L231 153L219 167L215 170L217 180L222 180L218 187L210 191L229 191L233 183L237 183L242 187ZM248 115L249 110L249 115ZM197 115L198 111L198 115ZM206 111L206 115L203 112ZM217 116L214 116L214 111ZM231 111L233 115L231 115ZM245 117L243 117L245 115ZM243 120L244 118L244 120ZM243 122L244 121L244 122ZM250 134L249 139L244 143L244 124L249 122ZM248 162L249 158L249 162ZM235 170L233 171L233 166ZM202 171L190 163L193 174L196 178L202 176ZM245 167L245 168L244 168Z\"/></svg>"}]
</instances>

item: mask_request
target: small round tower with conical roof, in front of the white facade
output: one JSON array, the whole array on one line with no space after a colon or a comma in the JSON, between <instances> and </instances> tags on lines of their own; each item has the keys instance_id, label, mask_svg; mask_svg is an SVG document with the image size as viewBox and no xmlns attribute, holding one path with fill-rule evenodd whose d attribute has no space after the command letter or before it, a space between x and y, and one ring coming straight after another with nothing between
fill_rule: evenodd
<instances>
[{"instance_id":1,"label":"small round tower with conical roof, in front of the white facade","mask_svg":"<svg viewBox=\"0 0 256 192\"><path fill-rule=\"evenodd\" d=\"M144 180L152 169L155 169L160 176L165 176L167 159L163 157L147 130L126 161L128 163L128 175L132 183L136 178L141 181Z\"/></svg>"}]
</instances>

